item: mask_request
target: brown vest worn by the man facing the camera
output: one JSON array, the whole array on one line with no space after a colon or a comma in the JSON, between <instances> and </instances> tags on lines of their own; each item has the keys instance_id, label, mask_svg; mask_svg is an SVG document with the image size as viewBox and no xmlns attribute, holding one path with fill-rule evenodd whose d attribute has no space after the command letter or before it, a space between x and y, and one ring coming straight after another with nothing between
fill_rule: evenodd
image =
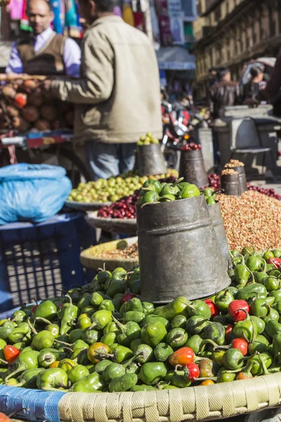
<instances>
[{"instance_id":1,"label":"brown vest worn by the man facing the camera","mask_svg":"<svg viewBox=\"0 0 281 422\"><path fill-rule=\"evenodd\" d=\"M39 51L35 51L32 40L20 41L17 49L23 72L27 75L64 75L64 45L65 38L56 33Z\"/></svg>"}]
</instances>

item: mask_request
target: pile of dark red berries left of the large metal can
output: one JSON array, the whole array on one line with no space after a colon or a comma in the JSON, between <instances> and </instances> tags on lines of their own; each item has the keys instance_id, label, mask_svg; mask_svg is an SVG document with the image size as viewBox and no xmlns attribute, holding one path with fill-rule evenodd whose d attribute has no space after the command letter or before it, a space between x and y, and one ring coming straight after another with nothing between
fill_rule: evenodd
<instances>
[{"instance_id":1,"label":"pile of dark red berries left of the large metal can","mask_svg":"<svg viewBox=\"0 0 281 422\"><path fill-rule=\"evenodd\" d=\"M159 180L161 183L173 183L177 179L176 177L168 177L166 179ZM135 191L133 195L124 196L115 203L108 205L108 207L101 207L98 212L98 217L101 218L137 218L136 205L139 200L139 191Z\"/></svg>"}]
</instances>

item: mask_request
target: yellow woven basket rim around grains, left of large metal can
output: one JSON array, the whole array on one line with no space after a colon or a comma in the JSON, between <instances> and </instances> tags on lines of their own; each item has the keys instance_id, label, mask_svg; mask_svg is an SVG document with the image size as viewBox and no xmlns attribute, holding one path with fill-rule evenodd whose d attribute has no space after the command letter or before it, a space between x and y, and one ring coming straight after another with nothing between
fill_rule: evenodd
<instances>
[{"instance_id":1,"label":"yellow woven basket rim around grains, left of large metal can","mask_svg":"<svg viewBox=\"0 0 281 422\"><path fill-rule=\"evenodd\" d=\"M134 265L139 264L139 260L132 258L127 259L116 259L116 258L101 258L100 255L103 252L109 252L111 250L120 249L123 250L127 246L131 246L137 242L137 237L123 239L122 241L113 241L107 243L101 243L101 245L92 246L92 248L85 249L80 253L80 261L84 267L89 269L98 269L105 267L108 271L113 271L117 267L123 267L127 271L132 269Z\"/></svg>"}]
</instances>

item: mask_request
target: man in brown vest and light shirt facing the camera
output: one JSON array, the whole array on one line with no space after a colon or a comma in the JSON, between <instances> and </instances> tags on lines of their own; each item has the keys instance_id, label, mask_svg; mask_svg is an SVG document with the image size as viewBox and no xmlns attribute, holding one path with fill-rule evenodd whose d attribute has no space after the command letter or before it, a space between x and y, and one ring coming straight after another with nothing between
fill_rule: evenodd
<instances>
[{"instance_id":1,"label":"man in brown vest and light shirt facing the camera","mask_svg":"<svg viewBox=\"0 0 281 422\"><path fill-rule=\"evenodd\" d=\"M33 33L13 44L6 73L79 77L80 47L51 29L54 13L49 3L28 1L27 16Z\"/></svg>"}]
</instances>

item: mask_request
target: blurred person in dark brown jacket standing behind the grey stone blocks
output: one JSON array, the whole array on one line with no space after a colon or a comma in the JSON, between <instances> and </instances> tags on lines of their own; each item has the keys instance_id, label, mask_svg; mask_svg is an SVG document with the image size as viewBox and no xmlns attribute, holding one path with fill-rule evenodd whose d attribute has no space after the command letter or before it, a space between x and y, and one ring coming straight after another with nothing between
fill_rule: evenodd
<instances>
[{"instance_id":1,"label":"blurred person in dark brown jacket standing behind the grey stone blocks","mask_svg":"<svg viewBox=\"0 0 281 422\"><path fill-rule=\"evenodd\" d=\"M218 83L211 87L209 93L209 109L213 119L223 117L225 107L237 105L239 85L231 80L230 70L218 72Z\"/></svg>"}]
</instances>

